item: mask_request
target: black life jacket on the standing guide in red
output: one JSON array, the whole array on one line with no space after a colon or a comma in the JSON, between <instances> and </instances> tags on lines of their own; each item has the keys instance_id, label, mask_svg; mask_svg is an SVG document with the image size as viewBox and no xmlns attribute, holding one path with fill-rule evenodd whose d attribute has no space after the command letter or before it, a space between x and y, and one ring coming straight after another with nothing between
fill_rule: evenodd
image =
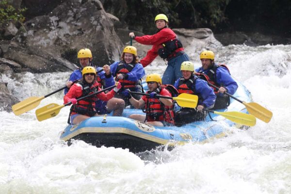
<instances>
[{"instance_id":1,"label":"black life jacket on the standing guide in red","mask_svg":"<svg viewBox=\"0 0 291 194\"><path fill-rule=\"evenodd\" d=\"M176 39L162 43L161 48L158 49L158 54L162 59L169 60L170 58L175 57L176 53L178 53L176 50L179 48L183 48L183 45L178 36L176 36Z\"/></svg>"}]
</instances>

